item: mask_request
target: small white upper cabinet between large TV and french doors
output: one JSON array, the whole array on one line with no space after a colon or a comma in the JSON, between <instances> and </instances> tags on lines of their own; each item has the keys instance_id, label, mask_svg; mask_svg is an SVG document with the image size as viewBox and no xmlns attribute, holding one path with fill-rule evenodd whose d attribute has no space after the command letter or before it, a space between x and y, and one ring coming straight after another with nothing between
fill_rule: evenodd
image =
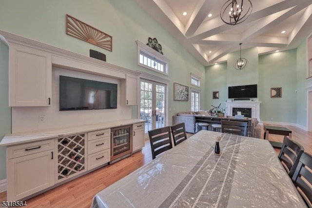
<instances>
[{"instance_id":1,"label":"small white upper cabinet between large TV and french doors","mask_svg":"<svg viewBox=\"0 0 312 208\"><path fill-rule=\"evenodd\" d=\"M126 79L121 83L121 104L137 105L138 102L138 76L126 74Z\"/></svg>"}]
</instances>

